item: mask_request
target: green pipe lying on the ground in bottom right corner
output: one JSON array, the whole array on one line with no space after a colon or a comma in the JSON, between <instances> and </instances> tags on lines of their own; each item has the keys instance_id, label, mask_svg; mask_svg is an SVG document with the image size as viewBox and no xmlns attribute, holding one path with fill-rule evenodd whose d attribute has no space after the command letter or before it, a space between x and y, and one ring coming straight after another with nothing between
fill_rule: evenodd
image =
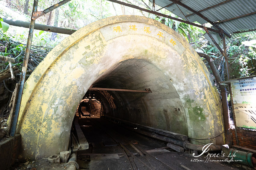
<instances>
[{"instance_id":1,"label":"green pipe lying on the ground in bottom right corner","mask_svg":"<svg viewBox=\"0 0 256 170\"><path fill-rule=\"evenodd\" d=\"M248 165L256 169L256 153L238 151L231 148L229 150L229 157L238 163Z\"/></svg>"}]
</instances>

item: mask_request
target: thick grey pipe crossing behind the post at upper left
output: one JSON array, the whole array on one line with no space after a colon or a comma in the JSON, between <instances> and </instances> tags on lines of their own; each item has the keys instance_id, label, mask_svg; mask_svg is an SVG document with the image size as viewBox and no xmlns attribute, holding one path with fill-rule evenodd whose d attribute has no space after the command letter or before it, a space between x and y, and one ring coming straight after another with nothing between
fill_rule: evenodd
<instances>
[{"instance_id":1,"label":"thick grey pipe crossing behind the post at upper left","mask_svg":"<svg viewBox=\"0 0 256 170\"><path fill-rule=\"evenodd\" d=\"M30 22L27 21L20 21L16 19L11 18L2 18L4 22L8 23L9 25L17 26L17 27L24 27L29 28ZM61 27L55 27L50 25L44 25L44 24L36 24L34 25L34 29L42 30L42 31L49 31L49 32L56 32L60 34L73 34L76 30L75 29L68 29L68 28L61 28Z\"/></svg>"}]
</instances>

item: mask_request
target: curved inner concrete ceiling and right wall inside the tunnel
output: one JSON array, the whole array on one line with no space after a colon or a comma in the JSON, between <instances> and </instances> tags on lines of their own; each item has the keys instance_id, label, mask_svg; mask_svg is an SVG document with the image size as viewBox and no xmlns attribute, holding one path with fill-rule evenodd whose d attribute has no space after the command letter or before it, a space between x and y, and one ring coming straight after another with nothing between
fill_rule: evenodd
<instances>
[{"instance_id":1,"label":"curved inner concrete ceiling and right wall inside the tunnel","mask_svg":"<svg viewBox=\"0 0 256 170\"><path fill-rule=\"evenodd\" d=\"M108 91L115 97L114 102L120 108L111 115L188 135L186 116L181 114L184 112L183 104L171 82L172 79L154 64L142 59L129 59L106 71L93 83L93 87L130 90L150 88L153 93L149 94ZM159 113L161 116L158 120L148 118Z\"/></svg>"}]
</instances>

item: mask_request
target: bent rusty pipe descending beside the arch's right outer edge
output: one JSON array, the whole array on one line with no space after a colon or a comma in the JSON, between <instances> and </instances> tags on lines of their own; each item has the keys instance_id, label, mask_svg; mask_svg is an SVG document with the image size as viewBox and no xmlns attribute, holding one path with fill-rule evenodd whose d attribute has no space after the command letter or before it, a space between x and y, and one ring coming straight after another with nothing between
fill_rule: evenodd
<instances>
[{"instance_id":1,"label":"bent rusty pipe descending beside the arch's right outer edge","mask_svg":"<svg viewBox=\"0 0 256 170\"><path fill-rule=\"evenodd\" d=\"M218 72L212 58L207 55L204 52L197 51L198 55L200 57L205 58L210 67L211 70L216 78L217 83L220 86L220 92L221 92L221 102L222 102L222 111L223 111L223 121L224 121L224 129L225 129L225 136L226 136L226 144L229 146L232 145L232 139L229 133L229 107L228 107L228 98L227 98L227 89L224 85L221 85L220 82L222 82L222 79L220 77L220 73Z\"/></svg>"}]
</instances>

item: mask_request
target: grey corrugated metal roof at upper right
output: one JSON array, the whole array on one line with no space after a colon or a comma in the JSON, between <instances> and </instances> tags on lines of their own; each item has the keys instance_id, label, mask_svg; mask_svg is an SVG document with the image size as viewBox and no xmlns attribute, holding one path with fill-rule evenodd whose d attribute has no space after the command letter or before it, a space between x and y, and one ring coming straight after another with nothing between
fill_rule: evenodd
<instances>
[{"instance_id":1,"label":"grey corrugated metal roof at upper right","mask_svg":"<svg viewBox=\"0 0 256 170\"><path fill-rule=\"evenodd\" d=\"M152 2L152 0L150 1ZM207 19L205 20L198 14L193 13L184 5L177 4L177 1L199 12L230 34L231 38L226 38L226 43L238 36L256 33L256 0L155 0L155 4L161 7L176 2L165 9L186 21L197 21L200 24L204 24L208 22L206 21ZM214 26L212 28L217 29ZM235 33L237 31L240 31L240 33ZM223 47L219 34L212 31L209 32L216 42ZM204 36L212 43L207 34Z\"/></svg>"}]
</instances>

